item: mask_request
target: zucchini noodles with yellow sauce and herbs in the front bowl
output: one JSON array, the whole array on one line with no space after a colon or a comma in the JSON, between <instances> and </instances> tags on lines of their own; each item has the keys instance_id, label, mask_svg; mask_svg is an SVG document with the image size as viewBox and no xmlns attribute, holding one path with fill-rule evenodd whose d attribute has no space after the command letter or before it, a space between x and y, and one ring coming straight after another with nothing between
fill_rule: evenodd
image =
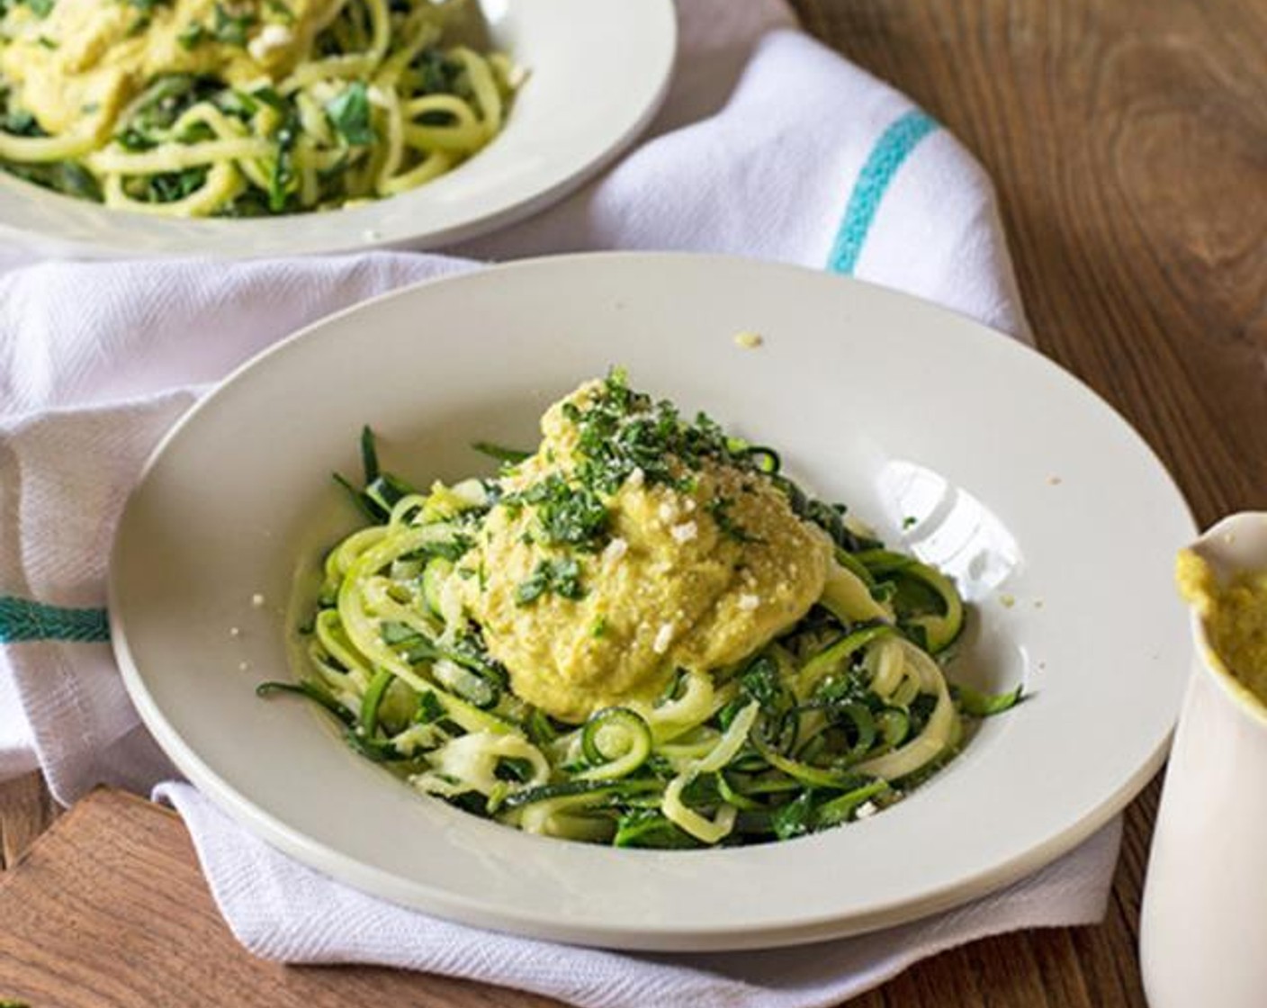
<instances>
[{"instance_id":1,"label":"zucchini noodles with yellow sauce and herbs in the front bowl","mask_svg":"<svg viewBox=\"0 0 1267 1008\"><path fill-rule=\"evenodd\" d=\"M298 694L416 790L531 833L688 848L865 819L998 695L954 583L703 413L587 382L494 478L340 484L366 519L295 628ZM307 595L300 597L308 597Z\"/></svg>"}]
</instances>

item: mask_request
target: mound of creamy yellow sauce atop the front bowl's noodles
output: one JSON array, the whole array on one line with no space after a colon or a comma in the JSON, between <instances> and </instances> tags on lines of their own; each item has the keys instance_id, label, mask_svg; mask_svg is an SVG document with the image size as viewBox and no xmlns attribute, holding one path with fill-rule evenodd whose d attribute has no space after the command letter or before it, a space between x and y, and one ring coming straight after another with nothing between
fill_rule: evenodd
<instances>
[{"instance_id":1,"label":"mound of creamy yellow sauce atop the front bowl's noodles","mask_svg":"<svg viewBox=\"0 0 1267 1008\"><path fill-rule=\"evenodd\" d=\"M585 385L551 407L540 449L503 478L512 492L464 560L487 572L466 581L468 605L514 692L569 721L650 700L675 669L741 661L810 610L831 560L826 533L797 517L769 479L712 460L691 469L666 459L670 478L655 483L635 467L599 491L601 548L569 550L542 534L522 501L551 479L580 479L568 413L583 416L602 389ZM575 564L592 587L525 605L523 586L560 564Z\"/></svg>"}]
</instances>

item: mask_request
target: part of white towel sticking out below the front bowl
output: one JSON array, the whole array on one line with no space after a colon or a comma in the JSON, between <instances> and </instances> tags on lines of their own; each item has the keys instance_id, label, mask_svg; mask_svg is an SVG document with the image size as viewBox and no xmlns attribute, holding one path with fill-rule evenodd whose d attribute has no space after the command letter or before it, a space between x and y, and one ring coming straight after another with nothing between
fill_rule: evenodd
<instances>
[{"instance_id":1,"label":"part of white towel sticking out below the front bowl","mask_svg":"<svg viewBox=\"0 0 1267 1008\"><path fill-rule=\"evenodd\" d=\"M764 952L627 953L436 921L283 857L188 784L165 784L156 798L180 811L215 901L237 940L258 956L284 962L379 962L471 980L492 975L504 986L585 1008L834 1005L974 938L1045 927L1055 919L1093 923L1104 913L1120 833L1115 819L1074 853L1017 885L856 938ZM1091 863L1096 870L1087 870Z\"/></svg>"}]
</instances>

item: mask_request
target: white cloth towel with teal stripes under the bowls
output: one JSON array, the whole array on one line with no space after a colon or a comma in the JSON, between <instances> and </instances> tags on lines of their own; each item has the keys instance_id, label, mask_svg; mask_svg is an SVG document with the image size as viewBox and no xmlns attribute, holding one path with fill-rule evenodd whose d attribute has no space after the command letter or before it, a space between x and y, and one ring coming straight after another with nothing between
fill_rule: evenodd
<instances>
[{"instance_id":1,"label":"white cloth towel with teal stripes under the bowls","mask_svg":"<svg viewBox=\"0 0 1267 1008\"><path fill-rule=\"evenodd\" d=\"M0 256L18 262L0 275L0 775L38 761L63 803L99 782L146 790L172 776L106 644L104 573L119 510L147 453L205 383L336 308L480 260L685 249L855 275L1026 336L991 186L953 137L789 28L775 0L682 0L680 15L678 76L647 138L554 209L456 255L96 265ZM981 934L1087 923L1102 914L1120 832L1114 824L1005 895L933 922L811 951L675 959L474 934L308 872L188 789L166 794L253 951L409 965L578 1004L672 1004L684 992L704 1004L822 1004ZM291 891L303 899L280 895ZM331 913L353 923L332 933ZM487 955L492 942L497 956Z\"/></svg>"}]
</instances>

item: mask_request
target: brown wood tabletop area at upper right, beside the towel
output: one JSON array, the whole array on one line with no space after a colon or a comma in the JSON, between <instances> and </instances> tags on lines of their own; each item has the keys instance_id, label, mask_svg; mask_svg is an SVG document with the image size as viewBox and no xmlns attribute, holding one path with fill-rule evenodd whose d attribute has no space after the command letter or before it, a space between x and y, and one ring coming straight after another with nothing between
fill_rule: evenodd
<instances>
[{"instance_id":1,"label":"brown wood tabletop area at upper right, beside the towel","mask_svg":"<svg viewBox=\"0 0 1267 1008\"><path fill-rule=\"evenodd\" d=\"M1267 501L1267 4L794 0L995 179L1039 346L1202 525Z\"/></svg>"}]
</instances>

